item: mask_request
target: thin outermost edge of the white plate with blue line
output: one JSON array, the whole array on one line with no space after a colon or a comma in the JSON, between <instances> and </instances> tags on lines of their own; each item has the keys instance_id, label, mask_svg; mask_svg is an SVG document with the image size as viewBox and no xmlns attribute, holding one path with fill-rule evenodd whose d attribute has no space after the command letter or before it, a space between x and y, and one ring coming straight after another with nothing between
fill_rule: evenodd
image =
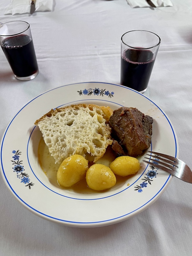
<instances>
[{"instance_id":1,"label":"thin outermost edge of the white plate with blue line","mask_svg":"<svg viewBox=\"0 0 192 256\"><path fill-rule=\"evenodd\" d=\"M92 81L92 82L79 82L79 83L73 83L73 84L65 84L65 85L61 85L61 86L52 88L52 89L50 89L50 90L47 90L47 91L45 91L45 92L43 92L43 93L37 95L37 96L34 97L33 99L29 100L26 104L24 104L24 105L22 106L22 108L19 109L19 111L16 112L15 115L13 115L13 117L12 117L12 119L10 120L9 124L8 124L7 127L5 128L5 131L4 131L3 136L2 136L2 138L1 138L1 143L0 143L0 150L1 150L1 154L0 154L1 165L0 165L0 169L1 169L1 174L2 174L2 176L3 176L3 180L4 180L4 182L5 182L6 186L7 186L7 188L9 189L9 191L11 192L11 194L12 194L14 197L16 197L16 199L18 199L18 201L19 201L23 206L25 206L25 208L27 208L27 209L30 210L31 212L35 213L37 216L42 217L42 218L44 218L44 219L46 219L46 220L56 221L57 223L58 223L58 221L59 221L59 223L62 222L62 224L68 225L68 226L76 226L76 227L105 226L105 225L110 225L110 224L114 224L114 223L117 223L117 222L126 220L126 219L128 219L128 218L126 218L126 216L130 215L132 212L136 212L135 214L138 214L138 213L140 213L140 212L142 212L143 210L146 209L146 207L143 207L143 206L145 206L146 204L149 206L149 205L151 205L152 203L154 203L154 202L158 199L158 197L162 195L162 193L165 191L165 189L166 189L167 186L170 184L170 182L171 182L171 180L172 180L172 178L173 178L172 175L169 175L168 178L167 178L167 180L166 180L166 182L164 183L163 187L161 187L161 189L160 189L150 200L148 200L148 202L146 202L145 204L142 204L139 208L135 209L134 211L129 212L129 213L123 215L123 216L119 216L119 217L117 217L117 218L113 218L113 219L110 219L110 220L96 221L96 222L94 222L94 221L93 221L93 222L79 222L79 221L75 222L75 221L60 220L60 219L58 219L58 218L54 218L54 217L52 217L52 216L48 216L47 214L44 214L44 213L42 213L42 212L39 212L37 209L34 209L33 207L31 207L29 204L27 204L27 202L24 202L24 201L22 200L22 198L20 198L20 196L18 196L18 195L16 194L16 192L13 190L11 184L9 183L9 181L8 181L7 178L6 178L6 175L5 175L5 173L4 173L3 163L2 163L2 147L3 147L3 144L4 144L4 139L5 139L6 133L7 133L8 129L9 129L10 125L12 124L13 120L14 120L14 119L16 118L16 116L22 111L22 109L25 108L30 102L32 102L32 101L35 100L36 98L38 98L38 97L44 95L44 94L47 93L47 92L50 92L50 91L53 91L53 90L57 90L58 88L65 87L65 86L69 86L69 85L90 84L90 83L94 83L94 84L109 84L109 85L115 85L115 86L124 87L124 88L126 88L126 89L128 89L128 90L131 90L131 91L133 91L133 92L136 92L136 93L140 94L141 96L143 96L144 98L146 98L147 100L149 100L150 102L152 102L152 103L164 114L166 120L168 121L168 123L169 123L169 125L170 125L170 127L171 127L171 129L172 129L172 134L173 134L174 140L175 140L175 157L178 157L178 155L179 155L179 147L178 147L177 135L176 135L176 132L175 132L174 127L173 127L173 125L172 125L172 122L171 122L171 120L169 119L169 117L166 115L166 113L165 113L153 100L151 100L149 97L147 97L146 95L144 95L144 94L142 94L142 93L140 93L140 92L137 92L137 91L135 91L135 90L133 90L133 89L131 89L131 88L128 88L128 87L126 87L126 86L123 86L123 85L120 85L120 84L112 84L112 83L108 83L108 82L96 82L96 81ZM35 129L35 127L34 127L34 129ZM28 139L28 140L29 140L29 139ZM163 192L161 192L163 188L164 188L164 190L163 190ZM154 200L153 200L153 199L154 199ZM133 214L133 215L134 215L134 214ZM118 219L118 221L117 221L117 219ZM67 224L66 224L66 222L67 222ZM70 223L70 224L69 224L69 223ZM73 224L71 224L71 223L73 223ZM78 223L78 225L74 225L74 223L76 223L76 224ZM98 223L100 223L101 225L98 225ZM105 223L105 224L103 225L103 223ZM92 224L95 224L95 225L92 225Z\"/></svg>"}]
</instances>

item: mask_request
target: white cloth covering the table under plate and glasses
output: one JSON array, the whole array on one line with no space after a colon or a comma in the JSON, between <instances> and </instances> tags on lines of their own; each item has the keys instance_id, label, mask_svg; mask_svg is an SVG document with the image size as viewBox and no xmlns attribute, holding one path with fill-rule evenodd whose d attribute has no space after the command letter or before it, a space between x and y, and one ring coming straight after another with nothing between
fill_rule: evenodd
<instances>
[{"instance_id":1,"label":"white cloth covering the table under plate and glasses","mask_svg":"<svg viewBox=\"0 0 192 256\"><path fill-rule=\"evenodd\" d=\"M173 7L135 8L126 0L55 0L53 12L4 15L0 22L30 23L38 76L15 79L0 50L0 137L29 100L64 84L120 83L120 39L135 29L152 31L161 45L144 93L169 116L179 141L179 158L192 168L192 2ZM24 120L23 120L24 121ZM191 256L192 185L177 178L162 196L131 219L99 228L71 228L25 209L0 178L2 256Z\"/></svg>"}]
</instances>

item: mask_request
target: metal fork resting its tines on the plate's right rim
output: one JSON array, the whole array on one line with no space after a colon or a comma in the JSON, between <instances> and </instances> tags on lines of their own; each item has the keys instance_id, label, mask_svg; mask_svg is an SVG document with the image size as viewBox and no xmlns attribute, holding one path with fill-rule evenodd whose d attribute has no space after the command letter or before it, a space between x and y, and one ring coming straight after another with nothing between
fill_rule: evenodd
<instances>
[{"instance_id":1,"label":"metal fork resting its tines on the plate's right rim","mask_svg":"<svg viewBox=\"0 0 192 256\"><path fill-rule=\"evenodd\" d=\"M143 162L150 164L152 166L155 166L159 169L164 170L165 172L168 172L170 174L172 174L173 176L179 178L180 180L186 181L188 183L192 183L192 172L190 170L190 168L187 166L187 164L185 164L183 161L181 161L178 158L175 158L173 156L168 156L168 155L164 155L158 152L153 152L153 151L148 151L149 153L155 154L155 156L152 156L151 154L147 154L147 156L152 156L155 157L156 159L151 159L148 157L145 157L152 162L148 162L143 160ZM162 157L159 157L162 156ZM161 161L159 161L161 160ZM163 162L162 162L163 161ZM166 164L169 163L169 164ZM166 168L166 167L168 168Z\"/></svg>"}]
</instances>

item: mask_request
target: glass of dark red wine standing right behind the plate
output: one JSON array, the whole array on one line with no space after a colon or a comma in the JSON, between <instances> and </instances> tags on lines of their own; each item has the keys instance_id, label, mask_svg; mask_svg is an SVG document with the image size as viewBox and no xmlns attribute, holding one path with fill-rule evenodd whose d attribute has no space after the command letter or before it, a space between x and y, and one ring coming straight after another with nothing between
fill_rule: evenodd
<instances>
[{"instance_id":1,"label":"glass of dark red wine standing right behind the plate","mask_svg":"<svg viewBox=\"0 0 192 256\"><path fill-rule=\"evenodd\" d=\"M138 92L147 90L161 39L150 31L133 30L121 37L120 84Z\"/></svg>"}]
</instances>

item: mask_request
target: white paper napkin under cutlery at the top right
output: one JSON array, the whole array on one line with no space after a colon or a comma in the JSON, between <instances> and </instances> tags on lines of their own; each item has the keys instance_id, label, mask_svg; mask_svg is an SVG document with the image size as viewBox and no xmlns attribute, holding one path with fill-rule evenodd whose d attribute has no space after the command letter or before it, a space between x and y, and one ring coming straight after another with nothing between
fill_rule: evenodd
<instances>
[{"instance_id":1,"label":"white paper napkin under cutlery at the top right","mask_svg":"<svg viewBox=\"0 0 192 256\"><path fill-rule=\"evenodd\" d=\"M132 8L137 7L150 7L146 0L126 0ZM156 7L168 7L173 6L170 0L151 0Z\"/></svg>"}]
</instances>

